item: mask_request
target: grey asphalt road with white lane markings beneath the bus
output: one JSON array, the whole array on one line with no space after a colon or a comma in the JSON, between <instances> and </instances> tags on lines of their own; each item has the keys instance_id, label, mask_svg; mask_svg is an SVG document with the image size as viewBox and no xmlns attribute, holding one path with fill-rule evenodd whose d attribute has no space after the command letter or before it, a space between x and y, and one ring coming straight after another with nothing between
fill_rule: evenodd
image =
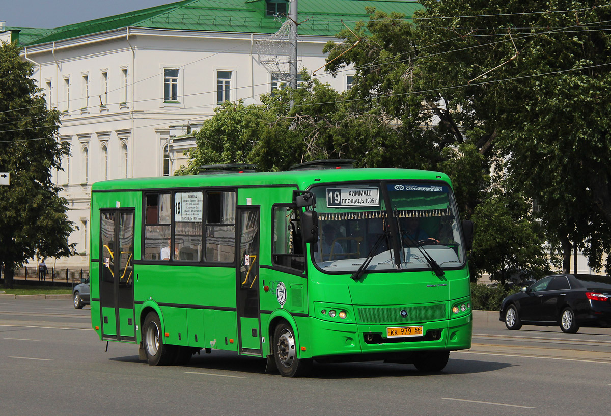
<instances>
[{"instance_id":1,"label":"grey asphalt road with white lane markings beneath the bus","mask_svg":"<svg viewBox=\"0 0 611 416\"><path fill-rule=\"evenodd\" d=\"M442 373L383 362L316 365L308 378L264 373L227 352L150 367L137 347L98 340L89 308L0 299L0 415L603 415L611 330L527 327L475 312L474 345Z\"/></svg>"}]
</instances>

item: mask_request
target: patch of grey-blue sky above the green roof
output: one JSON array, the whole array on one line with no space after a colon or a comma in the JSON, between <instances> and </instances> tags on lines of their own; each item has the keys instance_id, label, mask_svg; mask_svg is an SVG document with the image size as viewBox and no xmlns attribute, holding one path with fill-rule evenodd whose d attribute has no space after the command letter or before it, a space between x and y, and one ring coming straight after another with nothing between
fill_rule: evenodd
<instances>
[{"instance_id":1,"label":"patch of grey-blue sky above the green roof","mask_svg":"<svg viewBox=\"0 0 611 416\"><path fill-rule=\"evenodd\" d=\"M0 21L48 29L133 12L178 0L0 0Z\"/></svg>"}]
</instances>

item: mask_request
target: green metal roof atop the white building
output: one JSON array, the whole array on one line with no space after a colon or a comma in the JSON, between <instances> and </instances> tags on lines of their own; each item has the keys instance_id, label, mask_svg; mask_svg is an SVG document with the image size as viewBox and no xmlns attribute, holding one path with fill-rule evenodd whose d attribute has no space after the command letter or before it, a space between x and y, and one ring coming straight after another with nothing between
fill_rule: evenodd
<instances>
[{"instance_id":1,"label":"green metal roof atop the white building","mask_svg":"<svg viewBox=\"0 0 611 416\"><path fill-rule=\"evenodd\" d=\"M280 22L266 16L265 0L183 0L56 29L21 29L20 45L56 42L122 27L213 32L273 33ZM365 7L411 17L415 0L299 0L299 34L333 36L355 21L368 20ZM9 28L11 29L11 28ZM13 27L12 29L20 29Z\"/></svg>"}]
</instances>

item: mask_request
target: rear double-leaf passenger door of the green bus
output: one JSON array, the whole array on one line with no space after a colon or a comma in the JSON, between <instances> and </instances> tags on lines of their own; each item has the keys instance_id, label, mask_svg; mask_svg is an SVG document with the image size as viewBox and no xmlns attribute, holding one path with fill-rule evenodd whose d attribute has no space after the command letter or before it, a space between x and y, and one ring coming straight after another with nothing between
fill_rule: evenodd
<instances>
[{"instance_id":1,"label":"rear double-leaf passenger door of the green bus","mask_svg":"<svg viewBox=\"0 0 611 416\"><path fill-rule=\"evenodd\" d=\"M134 210L100 210L100 321L103 339L136 340Z\"/></svg>"}]
</instances>

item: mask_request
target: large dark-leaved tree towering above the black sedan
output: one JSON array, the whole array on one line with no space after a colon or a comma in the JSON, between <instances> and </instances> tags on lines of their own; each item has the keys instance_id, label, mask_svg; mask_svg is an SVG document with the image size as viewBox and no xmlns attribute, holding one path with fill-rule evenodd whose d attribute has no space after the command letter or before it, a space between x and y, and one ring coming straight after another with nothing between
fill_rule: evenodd
<instances>
[{"instance_id":1,"label":"large dark-leaved tree towering above the black sedan","mask_svg":"<svg viewBox=\"0 0 611 416\"><path fill-rule=\"evenodd\" d=\"M599 268L611 249L611 37L602 24L611 7L596 0L420 3L414 24L371 10L366 26L327 45L329 58L338 57L327 68L353 64L360 95L402 123L436 115L427 153L466 141L488 166L496 159L507 175L494 186L538 202L563 270L574 242ZM475 203L485 198L474 196Z\"/></svg>"}]
</instances>

